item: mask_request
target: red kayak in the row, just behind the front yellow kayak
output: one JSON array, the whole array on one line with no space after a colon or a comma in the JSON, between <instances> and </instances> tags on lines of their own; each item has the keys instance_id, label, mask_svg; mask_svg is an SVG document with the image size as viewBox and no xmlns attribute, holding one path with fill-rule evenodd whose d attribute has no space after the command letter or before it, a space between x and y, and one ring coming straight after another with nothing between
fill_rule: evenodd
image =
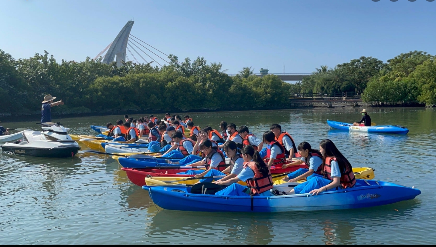
<instances>
[{"instance_id":1,"label":"red kayak in the row, just behind the front yellow kayak","mask_svg":"<svg viewBox=\"0 0 436 247\"><path fill-rule=\"evenodd\" d=\"M305 163L288 167L286 169L282 169L282 167L271 168L271 174L283 174L286 172L293 172L298 170L299 168L307 168ZM138 186L144 186L145 177L153 176L153 177L194 177L194 175L185 175L185 174L177 174L179 172L185 172L191 169L151 169L151 168L125 168L122 167L121 170L126 171L127 177L129 180Z\"/></svg>"}]
</instances>

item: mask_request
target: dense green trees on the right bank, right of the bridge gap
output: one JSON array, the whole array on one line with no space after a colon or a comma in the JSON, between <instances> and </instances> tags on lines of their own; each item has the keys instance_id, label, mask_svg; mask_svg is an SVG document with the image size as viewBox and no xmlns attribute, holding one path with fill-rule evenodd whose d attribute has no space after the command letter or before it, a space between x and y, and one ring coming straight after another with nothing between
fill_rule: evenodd
<instances>
[{"instance_id":1,"label":"dense green trees on the right bank, right of the bridge gap","mask_svg":"<svg viewBox=\"0 0 436 247\"><path fill-rule=\"evenodd\" d=\"M291 93L355 92L374 105L436 104L436 61L423 51L410 51L383 63L360 57L329 69L317 68L312 75L292 85Z\"/></svg>"}]
</instances>

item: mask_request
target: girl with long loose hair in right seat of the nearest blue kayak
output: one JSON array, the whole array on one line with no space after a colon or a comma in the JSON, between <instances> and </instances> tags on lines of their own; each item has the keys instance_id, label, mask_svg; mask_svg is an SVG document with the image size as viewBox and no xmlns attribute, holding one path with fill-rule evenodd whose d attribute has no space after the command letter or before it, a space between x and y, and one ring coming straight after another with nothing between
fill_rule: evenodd
<instances>
[{"instance_id":1,"label":"girl with long loose hair in right seat of the nearest blue kayak","mask_svg":"<svg viewBox=\"0 0 436 247\"><path fill-rule=\"evenodd\" d=\"M327 190L353 187L356 178L350 162L339 152L334 143L325 139L320 143L320 153L323 155L321 174L323 177L312 177L307 182L299 184L290 192L295 194L310 193L317 195Z\"/></svg>"}]
</instances>

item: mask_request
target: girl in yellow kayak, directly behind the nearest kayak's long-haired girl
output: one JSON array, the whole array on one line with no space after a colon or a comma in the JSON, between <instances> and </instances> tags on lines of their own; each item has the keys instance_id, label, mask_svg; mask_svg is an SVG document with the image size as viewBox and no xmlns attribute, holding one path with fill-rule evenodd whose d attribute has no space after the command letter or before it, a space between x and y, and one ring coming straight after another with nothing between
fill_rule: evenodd
<instances>
[{"instance_id":1,"label":"girl in yellow kayak, directly behind the nearest kayak's long-haired girl","mask_svg":"<svg viewBox=\"0 0 436 247\"><path fill-rule=\"evenodd\" d=\"M301 155L301 160L294 161L290 164L283 165L283 169L287 167L292 167L296 165L303 164L306 162L309 169L300 168L293 173L288 174L288 176L283 177L282 180L289 180L289 182L296 182L298 180L302 180L303 178L307 178L309 180L312 176L317 176L314 174L321 174L321 164L323 164L323 155L320 151L316 149L312 149L309 143L303 141L297 147L298 153Z\"/></svg>"}]
</instances>

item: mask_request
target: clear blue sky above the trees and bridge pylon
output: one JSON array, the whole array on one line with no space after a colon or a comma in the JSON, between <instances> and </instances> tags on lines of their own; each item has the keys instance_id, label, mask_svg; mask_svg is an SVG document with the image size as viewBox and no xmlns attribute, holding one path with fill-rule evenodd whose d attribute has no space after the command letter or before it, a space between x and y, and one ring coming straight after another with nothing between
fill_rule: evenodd
<instances>
[{"instance_id":1,"label":"clear blue sky above the trees and bridge pylon","mask_svg":"<svg viewBox=\"0 0 436 247\"><path fill-rule=\"evenodd\" d=\"M134 36L179 60L311 73L361 56L436 55L435 13L427 0L0 0L0 49L82 61L132 19Z\"/></svg>"}]
</instances>

